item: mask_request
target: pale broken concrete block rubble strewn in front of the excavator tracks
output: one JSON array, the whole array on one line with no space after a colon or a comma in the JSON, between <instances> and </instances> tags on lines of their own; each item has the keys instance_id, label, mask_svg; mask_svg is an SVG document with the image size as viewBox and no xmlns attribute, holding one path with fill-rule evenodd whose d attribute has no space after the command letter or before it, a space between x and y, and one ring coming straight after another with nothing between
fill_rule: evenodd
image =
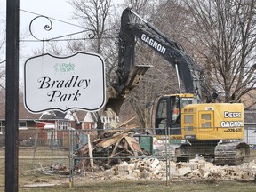
<instances>
[{"instance_id":1,"label":"pale broken concrete block rubble strewn in front of the excavator tracks","mask_svg":"<svg viewBox=\"0 0 256 192\"><path fill-rule=\"evenodd\" d=\"M166 170L169 167L169 170ZM189 162L175 163L160 161L157 158L131 159L104 172L104 179L127 180L166 180L166 173L172 179L205 180L254 180L256 163L250 162L240 166L217 166L206 162L204 158L191 159Z\"/></svg>"}]
</instances>

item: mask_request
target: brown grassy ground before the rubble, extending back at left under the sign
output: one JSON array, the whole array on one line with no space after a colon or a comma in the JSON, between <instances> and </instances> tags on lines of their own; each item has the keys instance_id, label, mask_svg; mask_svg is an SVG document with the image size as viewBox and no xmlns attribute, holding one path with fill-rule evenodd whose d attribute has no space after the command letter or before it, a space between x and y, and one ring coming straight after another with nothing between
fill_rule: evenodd
<instances>
[{"instance_id":1,"label":"brown grassy ground before the rubble, extending back at left under the sign","mask_svg":"<svg viewBox=\"0 0 256 192\"><path fill-rule=\"evenodd\" d=\"M2 151L3 152L3 151ZM0 151L1 154L1 151ZM44 156L44 158L42 157ZM50 156L50 157L49 157ZM60 163L68 166L68 151L53 151L45 148L34 151L24 148L20 150L19 159L19 191L109 191L109 192L166 192L166 191L256 191L256 181L241 180L106 180L103 173L87 173L75 175L70 180L68 175L47 173L51 164ZM42 172L42 168L44 172ZM100 176L100 174L102 174ZM72 181L72 182L71 182ZM0 192L4 191L4 158L0 159Z\"/></svg>"}]
</instances>

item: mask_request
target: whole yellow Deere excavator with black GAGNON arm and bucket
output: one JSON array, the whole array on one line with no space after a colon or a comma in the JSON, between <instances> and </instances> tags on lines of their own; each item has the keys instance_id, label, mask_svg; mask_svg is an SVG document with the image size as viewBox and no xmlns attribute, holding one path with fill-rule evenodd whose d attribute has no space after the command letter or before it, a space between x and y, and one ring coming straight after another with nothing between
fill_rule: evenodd
<instances>
[{"instance_id":1,"label":"whole yellow Deere excavator with black GAGNON arm and bucket","mask_svg":"<svg viewBox=\"0 0 256 192\"><path fill-rule=\"evenodd\" d=\"M135 20L136 18L136 20ZM242 103L212 103L204 71L177 44L147 20L124 10L119 33L117 81L108 89L107 109L118 114L127 94L140 83L150 66L135 65L136 40L147 44L176 69L186 93L163 95L157 102L155 132L157 140L168 140L170 155L177 160L191 156L212 156L215 164L242 164L250 155L244 139ZM181 88L180 88L181 92ZM179 142L177 142L179 140Z\"/></svg>"}]
</instances>

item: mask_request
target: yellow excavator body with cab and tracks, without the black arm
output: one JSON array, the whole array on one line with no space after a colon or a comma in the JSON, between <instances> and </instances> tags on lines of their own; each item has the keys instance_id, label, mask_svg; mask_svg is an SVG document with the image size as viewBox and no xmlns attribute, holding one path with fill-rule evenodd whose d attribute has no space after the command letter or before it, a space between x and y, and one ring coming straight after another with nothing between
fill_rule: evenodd
<instances>
[{"instance_id":1,"label":"yellow excavator body with cab and tracks, without the black arm","mask_svg":"<svg viewBox=\"0 0 256 192\"><path fill-rule=\"evenodd\" d=\"M172 156L214 158L214 163L242 164L250 155L244 139L244 106L241 103L197 103L193 94L165 95L156 108L156 138L182 140L170 145ZM175 108L178 106L178 113Z\"/></svg>"}]
</instances>

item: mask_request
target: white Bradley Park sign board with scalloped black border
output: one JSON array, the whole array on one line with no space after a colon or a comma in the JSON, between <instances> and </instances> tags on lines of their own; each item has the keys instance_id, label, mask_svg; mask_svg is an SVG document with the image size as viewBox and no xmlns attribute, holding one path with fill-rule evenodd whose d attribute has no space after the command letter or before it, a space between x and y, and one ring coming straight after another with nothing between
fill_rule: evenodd
<instances>
[{"instance_id":1,"label":"white Bradley Park sign board with scalloped black border","mask_svg":"<svg viewBox=\"0 0 256 192\"><path fill-rule=\"evenodd\" d=\"M105 64L99 54L77 52L29 58L24 65L24 105L32 113L45 110L98 111L106 100Z\"/></svg>"}]
</instances>

